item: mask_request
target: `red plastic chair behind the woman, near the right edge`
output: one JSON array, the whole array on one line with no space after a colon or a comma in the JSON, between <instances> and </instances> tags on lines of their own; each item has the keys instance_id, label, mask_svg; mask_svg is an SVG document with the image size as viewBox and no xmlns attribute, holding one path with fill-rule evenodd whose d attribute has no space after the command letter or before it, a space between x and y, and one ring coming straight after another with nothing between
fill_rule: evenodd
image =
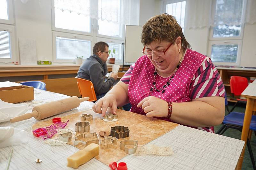
<instances>
[{"instance_id":1,"label":"red plastic chair behind the woman, near the right edge","mask_svg":"<svg viewBox=\"0 0 256 170\"><path fill-rule=\"evenodd\" d=\"M232 93L234 98L235 98L235 96L240 96L241 93L244 91L244 89L247 86L248 86L248 79L247 78L241 77L241 76L231 76L230 77L230 90L231 90L231 93ZM234 110L234 108L236 107L236 105L238 103L245 103L246 104L246 102L247 102L246 99L236 98L236 100L237 100L237 102L232 107L230 112L232 112Z\"/></svg>"}]
</instances>

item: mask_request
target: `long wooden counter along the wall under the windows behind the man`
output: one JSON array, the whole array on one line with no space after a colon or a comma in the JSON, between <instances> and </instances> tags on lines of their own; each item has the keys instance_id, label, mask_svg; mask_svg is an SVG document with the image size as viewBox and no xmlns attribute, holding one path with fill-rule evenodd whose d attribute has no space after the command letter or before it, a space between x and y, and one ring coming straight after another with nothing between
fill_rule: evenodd
<instances>
[{"instance_id":1,"label":"long wooden counter along the wall under the windows behind the man","mask_svg":"<svg viewBox=\"0 0 256 170\"><path fill-rule=\"evenodd\" d=\"M23 82L25 76L43 76L39 79L28 78L28 81L39 80L46 84L47 91L66 94L68 96L80 97L75 76L80 65L2 65L0 66L1 78L8 78L8 81ZM124 71L129 67L124 67ZM121 66L120 71L123 70ZM112 71L112 65L108 66L108 72ZM54 75L55 78L49 78ZM64 78L63 78L64 77ZM12 80L15 78L15 80Z\"/></svg>"}]
</instances>

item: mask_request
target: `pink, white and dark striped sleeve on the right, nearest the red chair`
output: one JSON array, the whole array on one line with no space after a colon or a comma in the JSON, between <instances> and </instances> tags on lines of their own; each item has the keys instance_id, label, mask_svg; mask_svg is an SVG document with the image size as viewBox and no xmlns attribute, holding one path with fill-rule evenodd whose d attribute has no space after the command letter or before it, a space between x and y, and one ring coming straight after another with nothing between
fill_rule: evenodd
<instances>
[{"instance_id":1,"label":"pink, white and dark striped sleeve on the right, nearest the red chair","mask_svg":"<svg viewBox=\"0 0 256 170\"><path fill-rule=\"evenodd\" d=\"M206 58L192 78L189 94L190 99L209 96L225 97L224 85L220 74L210 58Z\"/></svg>"}]
</instances>

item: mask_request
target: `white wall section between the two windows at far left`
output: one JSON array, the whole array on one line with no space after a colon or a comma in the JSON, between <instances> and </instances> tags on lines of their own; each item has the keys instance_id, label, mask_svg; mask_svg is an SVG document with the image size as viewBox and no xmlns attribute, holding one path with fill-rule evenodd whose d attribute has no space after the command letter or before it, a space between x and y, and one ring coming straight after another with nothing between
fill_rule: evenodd
<instances>
[{"instance_id":1,"label":"white wall section between the two windows at far left","mask_svg":"<svg viewBox=\"0 0 256 170\"><path fill-rule=\"evenodd\" d=\"M16 37L35 39L37 59L52 61L51 0L29 0L26 4L16 0L13 3ZM18 47L17 52L19 54Z\"/></svg>"}]
</instances>

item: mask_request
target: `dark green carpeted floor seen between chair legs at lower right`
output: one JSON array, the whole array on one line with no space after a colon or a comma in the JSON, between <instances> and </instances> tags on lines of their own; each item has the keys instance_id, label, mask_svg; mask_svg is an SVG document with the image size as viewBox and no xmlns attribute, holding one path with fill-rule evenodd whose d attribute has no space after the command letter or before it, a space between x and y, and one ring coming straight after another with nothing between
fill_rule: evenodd
<instances>
[{"instance_id":1,"label":"dark green carpeted floor seen between chair legs at lower right","mask_svg":"<svg viewBox=\"0 0 256 170\"><path fill-rule=\"evenodd\" d=\"M231 109L233 107L234 103L229 102L228 103L228 108ZM233 112L241 112L244 113L245 111L245 105L244 104L240 104L238 106L236 106L236 108L233 110ZM225 115L227 115L228 112L226 110ZM215 126L215 132L217 132L220 129L221 125L219 126ZM236 129L228 129L225 131L225 133L223 133L224 136L227 137L232 137L232 138L236 138L236 139L240 139L241 138L241 132L239 130ZM252 146L252 152L254 154L254 159L256 158L256 137L254 135L254 133L252 133L252 138L251 138L251 146ZM245 150L245 154L244 154L244 162L243 162L243 166L242 166L243 170L250 170L253 169L252 168L252 161L246 146L246 150Z\"/></svg>"}]
</instances>

